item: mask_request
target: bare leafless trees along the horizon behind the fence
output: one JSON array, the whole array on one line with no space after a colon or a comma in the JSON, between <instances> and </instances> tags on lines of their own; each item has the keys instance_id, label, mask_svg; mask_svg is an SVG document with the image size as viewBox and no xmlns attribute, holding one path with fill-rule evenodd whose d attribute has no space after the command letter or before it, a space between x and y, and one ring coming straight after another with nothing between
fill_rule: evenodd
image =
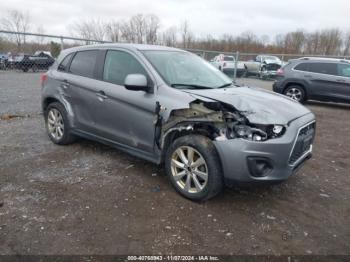
<instances>
[{"instance_id":1,"label":"bare leafless trees along the horizon behind the fence","mask_svg":"<svg viewBox=\"0 0 350 262\"><path fill-rule=\"evenodd\" d=\"M42 26L34 27L28 13L17 10L9 11L8 15L0 20L0 29L45 33ZM240 35L227 33L221 37L208 34L203 37L195 34L189 21L162 28L158 16L137 14L127 20L106 21L97 18L78 20L69 25L68 31L74 37L96 41L159 44L221 52L350 56L350 31L342 32L338 28L314 32L300 29L274 37L258 36L253 32L243 32ZM9 44L9 41L15 43L18 50L23 50L23 46L29 45L25 36L14 35L11 39L0 38L0 49L4 43ZM43 45L44 38L37 37L34 42Z\"/></svg>"}]
</instances>

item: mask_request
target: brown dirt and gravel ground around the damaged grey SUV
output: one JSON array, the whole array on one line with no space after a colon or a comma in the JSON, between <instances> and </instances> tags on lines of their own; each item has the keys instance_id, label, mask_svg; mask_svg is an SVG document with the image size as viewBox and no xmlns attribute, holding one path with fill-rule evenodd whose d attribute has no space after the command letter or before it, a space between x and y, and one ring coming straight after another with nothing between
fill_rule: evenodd
<instances>
[{"instance_id":1,"label":"brown dirt and gravel ground around the damaged grey SUV","mask_svg":"<svg viewBox=\"0 0 350 262\"><path fill-rule=\"evenodd\" d=\"M0 72L0 115L26 115L0 121L0 254L350 254L350 106L307 105L314 157L287 182L197 204L161 167L52 144L39 102L39 74Z\"/></svg>"}]
</instances>

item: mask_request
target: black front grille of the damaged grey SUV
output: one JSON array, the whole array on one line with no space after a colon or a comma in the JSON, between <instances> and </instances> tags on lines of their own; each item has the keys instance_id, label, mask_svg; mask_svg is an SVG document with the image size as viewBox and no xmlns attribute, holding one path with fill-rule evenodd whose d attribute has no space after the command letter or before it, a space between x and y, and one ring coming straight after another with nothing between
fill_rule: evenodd
<instances>
[{"instance_id":1,"label":"black front grille of the damaged grey SUV","mask_svg":"<svg viewBox=\"0 0 350 262\"><path fill-rule=\"evenodd\" d=\"M310 123L298 132L288 163L294 165L306 152L310 151L315 136L316 123Z\"/></svg>"}]
</instances>

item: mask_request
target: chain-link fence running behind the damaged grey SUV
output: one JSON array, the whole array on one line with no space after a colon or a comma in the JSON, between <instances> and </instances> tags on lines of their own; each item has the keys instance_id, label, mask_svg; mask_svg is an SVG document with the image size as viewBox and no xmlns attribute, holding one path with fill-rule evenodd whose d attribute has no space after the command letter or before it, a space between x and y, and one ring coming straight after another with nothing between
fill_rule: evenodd
<instances>
[{"instance_id":1,"label":"chain-link fence running behind the damaged grey SUV","mask_svg":"<svg viewBox=\"0 0 350 262\"><path fill-rule=\"evenodd\" d=\"M47 70L60 54L61 50L81 45L96 43L111 43L94 39L84 39L68 36L57 36L36 33L20 33L0 31L0 70L18 70L22 72L37 72ZM236 77L244 76L247 61L253 61L258 53L240 53L186 49L210 61L235 81ZM265 54L278 57L283 64L290 59L309 56L306 54ZM221 57L221 62L217 61ZM349 59L350 57L321 56L329 58ZM227 60L227 61L225 61ZM226 65L223 68L223 65ZM230 65L230 66L228 66Z\"/></svg>"}]
</instances>

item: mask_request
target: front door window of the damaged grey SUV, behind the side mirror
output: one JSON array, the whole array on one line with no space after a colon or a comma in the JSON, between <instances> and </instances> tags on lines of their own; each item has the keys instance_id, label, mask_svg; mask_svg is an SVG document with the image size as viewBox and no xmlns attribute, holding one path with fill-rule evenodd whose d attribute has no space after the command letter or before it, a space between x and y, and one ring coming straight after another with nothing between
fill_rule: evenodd
<instances>
[{"instance_id":1,"label":"front door window of the damaged grey SUV, behind the side mirror","mask_svg":"<svg viewBox=\"0 0 350 262\"><path fill-rule=\"evenodd\" d=\"M103 71L103 80L117 85L124 85L129 74L143 74L147 72L135 57L123 51L108 51Z\"/></svg>"}]
</instances>

